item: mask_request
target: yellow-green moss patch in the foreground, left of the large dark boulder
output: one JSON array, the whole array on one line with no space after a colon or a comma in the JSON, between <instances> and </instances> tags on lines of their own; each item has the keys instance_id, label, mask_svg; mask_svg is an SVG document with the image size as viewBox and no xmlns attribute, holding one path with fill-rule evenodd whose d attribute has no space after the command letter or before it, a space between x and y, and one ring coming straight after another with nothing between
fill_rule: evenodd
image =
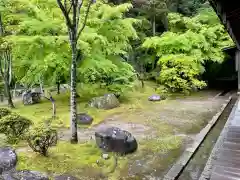
<instances>
[{"instance_id":1,"label":"yellow-green moss patch in the foreground, left of the large dark boulder","mask_svg":"<svg viewBox=\"0 0 240 180\"><path fill-rule=\"evenodd\" d=\"M93 143L72 145L60 142L49 150L48 157L33 152L20 152L18 156L17 169L38 170L49 175L69 173L76 177L91 177L94 174L107 174L114 166L113 156L110 154L110 159L103 160L101 151ZM91 174L85 174L88 168Z\"/></svg>"}]
</instances>

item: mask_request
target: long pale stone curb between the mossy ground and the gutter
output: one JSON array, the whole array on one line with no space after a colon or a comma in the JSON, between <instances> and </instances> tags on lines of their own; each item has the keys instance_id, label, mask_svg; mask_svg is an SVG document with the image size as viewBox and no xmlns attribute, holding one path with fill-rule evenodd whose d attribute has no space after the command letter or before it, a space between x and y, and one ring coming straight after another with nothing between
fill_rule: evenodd
<instances>
[{"instance_id":1,"label":"long pale stone curb between the mossy ground and the gutter","mask_svg":"<svg viewBox=\"0 0 240 180\"><path fill-rule=\"evenodd\" d=\"M189 161L193 157L193 155L196 153L212 127L216 124L217 120L221 116L224 109L227 107L229 102L231 101L232 96L230 96L226 103L224 103L221 107L221 109L213 116L211 121L208 122L208 124L200 131L199 134L196 135L194 143L191 145L191 147L187 148L183 154L180 156L180 158L177 160L177 162L172 166L172 168L168 171L168 173L164 176L163 180L176 180L184 168L188 165Z\"/></svg>"}]
</instances>

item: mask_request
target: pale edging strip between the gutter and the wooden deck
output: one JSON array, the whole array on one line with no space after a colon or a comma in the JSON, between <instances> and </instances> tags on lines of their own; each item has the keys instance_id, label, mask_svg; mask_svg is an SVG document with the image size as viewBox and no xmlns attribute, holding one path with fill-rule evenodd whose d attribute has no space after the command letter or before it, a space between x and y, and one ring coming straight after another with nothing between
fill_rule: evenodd
<instances>
[{"instance_id":1,"label":"pale edging strip between the gutter and the wooden deck","mask_svg":"<svg viewBox=\"0 0 240 180\"><path fill-rule=\"evenodd\" d=\"M224 141L224 139L226 137L226 133L228 131L228 126L231 123L230 120L234 117L235 111L238 109L239 102L240 102L240 99L238 98L237 101L235 102L234 106L233 106L233 109L232 109L232 111L231 111L231 113L228 117L228 120L227 120L222 132L220 133L220 135L218 137L218 140L217 140L216 144L214 145L214 147L212 149L212 152L211 152L211 154L208 158L208 161L207 161L207 163L204 167L204 170L203 170L199 180L210 179L212 168L213 168L213 162L214 162L214 160L216 160L216 158L219 155L219 149L223 145L223 141Z\"/></svg>"}]
</instances>

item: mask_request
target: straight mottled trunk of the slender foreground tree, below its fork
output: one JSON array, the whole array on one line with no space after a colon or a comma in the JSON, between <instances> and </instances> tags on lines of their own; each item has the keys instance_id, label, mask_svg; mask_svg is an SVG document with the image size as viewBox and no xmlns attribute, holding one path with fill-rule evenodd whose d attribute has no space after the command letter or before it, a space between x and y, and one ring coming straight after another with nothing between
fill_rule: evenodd
<instances>
[{"instance_id":1,"label":"straight mottled trunk of the slender foreground tree, below its fork","mask_svg":"<svg viewBox=\"0 0 240 180\"><path fill-rule=\"evenodd\" d=\"M71 48L72 48L72 67L71 67L71 143L78 143L78 134L77 134L77 40L76 32L71 34Z\"/></svg>"}]
</instances>

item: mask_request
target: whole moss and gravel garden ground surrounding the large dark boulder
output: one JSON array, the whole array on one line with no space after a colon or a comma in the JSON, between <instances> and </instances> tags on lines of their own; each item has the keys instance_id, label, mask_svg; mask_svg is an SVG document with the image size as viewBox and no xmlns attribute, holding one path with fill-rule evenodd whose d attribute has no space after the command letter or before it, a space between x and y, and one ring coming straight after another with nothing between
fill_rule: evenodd
<instances>
[{"instance_id":1,"label":"whole moss and gravel garden ground surrounding the large dark boulder","mask_svg":"<svg viewBox=\"0 0 240 180\"><path fill-rule=\"evenodd\" d=\"M223 100L212 102L209 97L212 98L215 92L198 92L190 97L173 96L168 100L152 103L147 101L152 94L155 94L154 86L147 84L145 89L126 93L121 98L121 106L112 110L87 107L89 98L86 96L78 100L79 112L86 112L94 117L94 124L87 130L84 128L82 136L95 126L105 123L126 127L137 138L137 152L124 157L117 156L116 168L116 155L110 154L110 159L102 159L102 152L93 140L81 141L76 145L61 140L56 147L49 150L48 157L32 152L25 142L21 142L15 146L19 156L17 168L38 170L49 176L67 173L80 179L142 179L161 176L184 149L187 139L181 135L200 131L220 108ZM69 97L67 94L54 97L57 119L53 121L53 125L67 130L70 124ZM13 111L38 124L51 117L51 103L45 100L32 106L17 103ZM138 128L129 127L129 123ZM82 127L79 129L81 131ZM4 138L0 136L0 146L3 146L1 139Z\"/></svg>"}]
</instances>

